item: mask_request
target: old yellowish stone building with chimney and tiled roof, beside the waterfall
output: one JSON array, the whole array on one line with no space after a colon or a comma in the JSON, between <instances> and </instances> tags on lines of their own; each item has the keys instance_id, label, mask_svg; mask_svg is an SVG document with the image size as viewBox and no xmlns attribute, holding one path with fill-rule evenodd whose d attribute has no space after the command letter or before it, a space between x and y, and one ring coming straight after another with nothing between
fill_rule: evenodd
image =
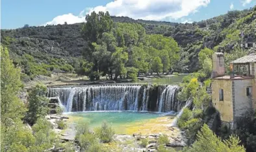
<instances>
[{"instance_id":1,"label":"old yellowish stone building with chimney and tiled roof, beside the waterfall","mask_svg":"<svg viewBox=\"0 0 256 152\"><path fill-rule=\"evenodd\" d=\"M236 120L249 109L256 109L256 54L230 63L225 75L224 54L212 55L212 104L222 122L235 129Z\"/></svg>"}]
</instances>

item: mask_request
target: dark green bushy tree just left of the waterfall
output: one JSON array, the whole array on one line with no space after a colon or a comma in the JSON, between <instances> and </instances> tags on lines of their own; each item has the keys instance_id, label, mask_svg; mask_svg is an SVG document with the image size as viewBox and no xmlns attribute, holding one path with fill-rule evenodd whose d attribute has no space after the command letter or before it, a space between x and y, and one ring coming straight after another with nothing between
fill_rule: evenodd
<instances>
[{"instance_id":1,"label":"dark green bushy tree just left of the waterfall","mask_svg":"<svg viewBox=\"0 0 256 152\"><path fill-rule=\"evenodd\" d=\"M45 97L47 88L45 85L37 84L29 92L29 111L25 116L25 121L33 125L38 118L44 118L48 114L47 107L49 99Z\"/></svg>"}]
</instances>

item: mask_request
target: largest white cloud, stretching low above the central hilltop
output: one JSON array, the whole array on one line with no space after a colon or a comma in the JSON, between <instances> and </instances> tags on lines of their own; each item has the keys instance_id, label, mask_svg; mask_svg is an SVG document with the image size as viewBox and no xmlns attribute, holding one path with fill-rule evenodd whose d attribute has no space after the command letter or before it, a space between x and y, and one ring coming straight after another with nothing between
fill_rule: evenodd
<instances>
[{"instance_id":1,"label":"largest white cloud, stretching low above the central hilltop","mask_svg":"<svg viewBox=\"0 0 256 152\"><path fill-rule=\"evenodd\" d=\"M47 24L79 23L84 21L85 12L109 11L111 16L128 16L133 19L164 20L181 19L198 12L202 6L207 6L210 0L116 0L107 3L105 6L96 6L83 10L79 16L64 14L57 16ZM69 16L69 17L66 17Z\"/></svg>"}]
</instances>

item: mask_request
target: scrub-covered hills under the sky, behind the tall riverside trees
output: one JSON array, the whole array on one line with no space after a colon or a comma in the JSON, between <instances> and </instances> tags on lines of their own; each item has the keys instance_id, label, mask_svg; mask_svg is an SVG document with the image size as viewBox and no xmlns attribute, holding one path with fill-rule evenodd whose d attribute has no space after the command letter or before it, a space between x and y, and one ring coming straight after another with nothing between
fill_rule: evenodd
<instances>
[{"instance_id":1,"label":"scrub-covered hills under the sky, behind the tall riverside trees","mask_svg":"<svg viewBox=\"0 0 256 152\"><path fill-rule=\"evenodd\" d=\"M186 24L134 20L129 17L111 18L115 23L139 23L145 28L146 34L172 37L181 47L181 61L188 60L185 63L188 70L185 72L194 72L199 69L198 52L204 47L229 53L244 38L255 36L255 12L255 7L250 10L235 10L222 16ZM36 75L50 75L56 69L71 72L87 43L81 36L82 25L83 23L25 26L1 30L1 43L10 50L14 63L21 65L23 80ZM244 38L240 38L240 32L244 32Z\"/></svg>"}]
</instances>

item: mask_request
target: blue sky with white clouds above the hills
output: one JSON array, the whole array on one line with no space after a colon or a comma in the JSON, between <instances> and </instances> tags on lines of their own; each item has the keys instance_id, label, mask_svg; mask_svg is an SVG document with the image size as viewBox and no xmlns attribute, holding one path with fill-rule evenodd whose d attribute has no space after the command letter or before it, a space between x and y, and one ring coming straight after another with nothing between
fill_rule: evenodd
<instances>
[{"instance_id":1,"label":"blue sky with white clouds above the hills","mask_svg":"<svg viewBox=\"0 0 256 152\"><path fill-rule=\"evenodd\" d=\"M1 29L81 23L93 11L192 23L255 5L256 0L1 0Z\"/></svg>"}]
</instances>

